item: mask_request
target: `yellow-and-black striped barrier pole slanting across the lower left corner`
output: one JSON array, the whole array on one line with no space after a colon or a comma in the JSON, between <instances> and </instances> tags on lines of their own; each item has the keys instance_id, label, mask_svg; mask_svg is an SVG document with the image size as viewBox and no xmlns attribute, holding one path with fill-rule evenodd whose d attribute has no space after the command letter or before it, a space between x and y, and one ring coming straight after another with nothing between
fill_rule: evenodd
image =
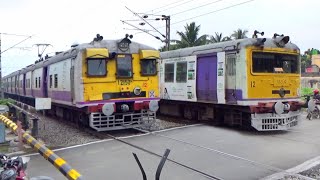
<instances>
[{"instance_id":1,"label":"yellow-and-black striped barrier pole slanting across the lower left corner","mask_svg":"<svg viewBox=\"0 0 320 180\"><path fill-rule=\"evenodd\" d=\"M18 126L16 123L5 117L4 115L0 115L0 120L4 122L4 124L17 133ZM35 138L33 138L30 134L21 130L23 139L30 144L34 149L36 149L46 160L48 160L52 165L54 165L65 177L69 180L82 180L82 175L73 169L64 159L60 158L53 151L48 149L42 143L39 143Z\"/></svg>"}]
</instances>

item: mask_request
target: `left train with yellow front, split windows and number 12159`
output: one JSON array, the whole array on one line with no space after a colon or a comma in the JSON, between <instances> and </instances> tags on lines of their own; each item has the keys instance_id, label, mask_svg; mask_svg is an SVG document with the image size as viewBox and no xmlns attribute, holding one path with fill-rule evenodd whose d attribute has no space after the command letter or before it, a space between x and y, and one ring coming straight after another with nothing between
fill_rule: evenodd
<instances>
[{"instance_id":1,"label":"left train with yellow front, split windows and number 12159","mask_svg":"<svg viewBox=\"0 0 320 180\"><path fill-rule=\"evenodd\" d=\"M32 104L49 97L50 114L97 131L155 120L159 51L135 42L103 40L72 46L3 78L5 96Z\"/></svg>"}]
</instances>

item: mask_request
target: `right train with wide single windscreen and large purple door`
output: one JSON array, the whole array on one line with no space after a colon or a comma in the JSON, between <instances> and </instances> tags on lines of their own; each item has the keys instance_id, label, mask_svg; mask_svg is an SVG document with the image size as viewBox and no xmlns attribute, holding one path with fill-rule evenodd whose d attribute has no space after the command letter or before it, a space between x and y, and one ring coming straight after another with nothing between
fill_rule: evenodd
<instances>
[{"instance_id":1,"label":"right train with wide single windscreen and large purple door","mask_svg":"<svg viewBox=\"0 0 320 180\"><path fill-rule=\"evenodd\" d=\"M286 130L300 119L300 50L289 36L160 53L160 113Z\"/></svg>"}]
</instances>

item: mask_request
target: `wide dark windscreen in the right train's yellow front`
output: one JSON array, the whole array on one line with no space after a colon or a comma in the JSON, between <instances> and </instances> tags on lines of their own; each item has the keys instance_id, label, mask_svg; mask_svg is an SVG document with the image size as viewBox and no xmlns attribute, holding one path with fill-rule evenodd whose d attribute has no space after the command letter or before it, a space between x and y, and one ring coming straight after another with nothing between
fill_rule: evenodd
<instances>
[{"instance_id":1,"label":"wide dark windscreen in the right train's yellow front","mask_svg":"<svg viewBox=\"0 0 320 180\"><path fill-rule=\"evenodd\" d=\"M252 53L254 73L300 73L298 55L280 53Z\"/></svg>"}]
</instances>

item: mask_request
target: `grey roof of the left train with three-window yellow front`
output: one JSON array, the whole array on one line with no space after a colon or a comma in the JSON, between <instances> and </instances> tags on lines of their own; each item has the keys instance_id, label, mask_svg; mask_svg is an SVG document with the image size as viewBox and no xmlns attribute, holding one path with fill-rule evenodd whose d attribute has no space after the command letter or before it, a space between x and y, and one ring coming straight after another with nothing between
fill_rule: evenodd
<instances>
[{"instance_id":1,"label":"grey roof of the left train with three-window yellow front","mask_svg":"<svg viewBox=\"0 0 320 180\"><path fill-rule=\"evenodd\" d=\"M24 74L26 72L29 71L33 71L34 69L38 69L40 67L44 67L44 66L48 66L50 64L65 60L65 59L69 59L72 57L76 57L78 52L83 51L87 48L107 48L109 50L110 53L112 52L119 52L118 50L118 43L120 41L122 41L123 39L117 39L117 40L101 40L101 41L92 41L90 43L83 43L83 44L79 44L67 51L61 52L57 55L54 55L52 57L49 57L43 61L40 61L36 64L32 64L29 65L23 69L20 69L18 71L12 72L7 76L4 76L3 78L8 78L11 76L16 76L19 74ZM143 50L156 50L153 47L147 46L145 44L142 43L137 43L137 42L131 42L130 43L130 48L129 51L127 51L126 53L139 53L140 49ZM123 53L123 52L122 52Z\"/></svg>"}]
</instances>

